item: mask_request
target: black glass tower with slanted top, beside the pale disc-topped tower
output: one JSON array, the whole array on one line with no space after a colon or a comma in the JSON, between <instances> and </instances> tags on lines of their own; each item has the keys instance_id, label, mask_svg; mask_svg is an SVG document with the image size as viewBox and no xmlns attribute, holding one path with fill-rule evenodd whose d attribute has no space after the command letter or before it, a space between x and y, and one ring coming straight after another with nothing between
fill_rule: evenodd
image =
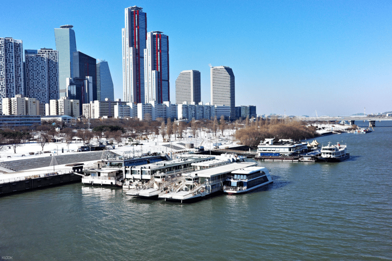
<instances>
[{"instance_id":1,"label":"black glass tower with slanted top, beside the pale disc-topped tower","mask_svg":"<svg viewBox=\"0 0 392 261\"><path fill-rule=\"evenodd\" d=\"M88 55L83 54L80 51L74 52L74 78L86 79L86 77L92 77L92 95L91 100L96 100L96 59Z\"/></svg>"}]
</instances>

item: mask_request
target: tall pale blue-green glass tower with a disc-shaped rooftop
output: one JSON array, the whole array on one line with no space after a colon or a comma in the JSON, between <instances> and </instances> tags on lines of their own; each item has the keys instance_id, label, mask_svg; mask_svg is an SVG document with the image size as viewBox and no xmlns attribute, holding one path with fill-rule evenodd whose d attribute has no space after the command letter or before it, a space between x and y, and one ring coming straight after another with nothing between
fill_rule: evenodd
<instances>
[{"instance_id":1,"label":"tall pale blue-green glass tower with a disc-shaped rooftop","mask_svg":"<svg viewBox=\"0 0 392 261\"><path fill-rule=\"evenodd\" d=\"M65 79L74 77L73 55L76 51L75 31L72 25L55 28L56 49L59 52L59 95L66 96Z\"/></svg>"}]
</instances>

